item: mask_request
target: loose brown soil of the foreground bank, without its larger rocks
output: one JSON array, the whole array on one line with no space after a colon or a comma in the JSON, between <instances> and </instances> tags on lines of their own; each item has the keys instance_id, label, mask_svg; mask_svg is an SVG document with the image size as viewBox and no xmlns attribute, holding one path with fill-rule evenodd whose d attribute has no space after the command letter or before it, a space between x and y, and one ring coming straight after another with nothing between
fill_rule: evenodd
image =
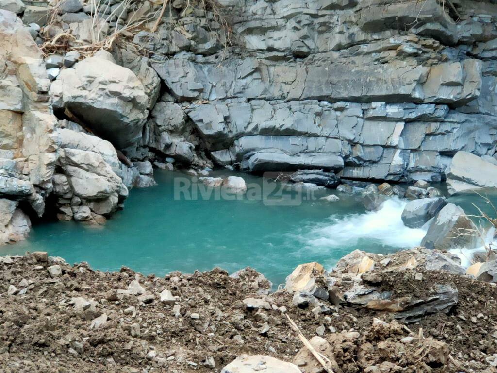
<instances>
[{"instance_id":1,"label":"loose brown soil of the foreground bank, without its larger rocks","mask_svg":"<svg viewBox=\"0 0 497 373\"><path fill-rule=\"evenodd\" d=\"M118 294L135 280L129 269L102 273L84 263L60 263L62 275L52 278L47 267L53 264L33 255L0 263L0 372L220 372L244 353L293 361L303 345L276 306L285 306L309 339L324 325L323 338L343 373L496 372L497 287L467 277L423 272L423 280L414 281L410 270L382 272L382 289L397 295L422 297L435 282L459 290L449 314L427 316L407 329L391 313L362 307L330 304L329 314L314 314L294 306L284 291L266 297L275 307L247 309L243 300L264 297L267 286L251 270L239 279L219 269L140 277L153 295L141 298L146 303ZM10 285L26 288L21 280L29 283L27 291L7 295ZM342 282L346 287L347 279ZM179 315L160 301L165 288L179 296ZM77 310L74 297L96 304ZM102 313L108 320L92 329L92 319ZM375 317L388 324L373 323ZM412 341L401 341L405 337ZM318 372L310 365L301 370Z\"/></svg>"}]
</instances>

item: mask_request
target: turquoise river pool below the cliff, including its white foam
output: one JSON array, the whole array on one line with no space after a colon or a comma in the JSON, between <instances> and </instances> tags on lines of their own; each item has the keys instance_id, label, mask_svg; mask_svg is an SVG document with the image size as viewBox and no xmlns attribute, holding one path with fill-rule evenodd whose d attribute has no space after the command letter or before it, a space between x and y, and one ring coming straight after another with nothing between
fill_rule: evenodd
<instances>
[{"instance_id":1,"label":"turquoise river pool below the cliff, including its white foam","mask_svg":"<svg viewBox=\"0 0 497 373\"><path fill-rule=\"evenodd\" d=\"M27 241L2 247L0 255L44 250L102 271L127 266L158 276L250 266L277 285L300 263L331 268L354 249L388 253L418 245L425 233L402 224L401 200L366 212L353 196L330 203L319 199L329 190L280 193L281 184L250 175L243 175L249 192L241 199L202 196L203 185L189 186L192 178L183 174L156 170L155 177L156 187L132 189L105 226L36 224Z\"/></svg>"}]
</instances>

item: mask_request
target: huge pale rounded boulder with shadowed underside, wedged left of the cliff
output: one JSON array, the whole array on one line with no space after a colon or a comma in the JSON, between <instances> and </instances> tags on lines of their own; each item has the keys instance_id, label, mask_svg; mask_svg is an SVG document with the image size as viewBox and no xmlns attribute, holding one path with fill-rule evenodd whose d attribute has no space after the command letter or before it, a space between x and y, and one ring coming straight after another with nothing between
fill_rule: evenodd
<instances>
[{"instance_id":1,"label":"huge pale rounded boulder with shadowed underside, wedged left of the cliff","mask_svg":"<svg viewBox=\"0 0 497 373\"><path fill-rule=\"evenodd\" d=\"M64 69L52 83L55 108L67 108L117 148L134 146L142 136L149 98L129 69L101 52Z\"/></svg>"}]
</instances>

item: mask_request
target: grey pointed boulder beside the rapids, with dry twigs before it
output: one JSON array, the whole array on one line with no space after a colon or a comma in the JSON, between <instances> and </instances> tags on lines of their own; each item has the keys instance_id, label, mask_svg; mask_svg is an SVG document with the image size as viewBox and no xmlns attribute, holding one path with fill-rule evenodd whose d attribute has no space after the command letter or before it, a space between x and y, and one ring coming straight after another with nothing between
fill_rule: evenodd
<instances>
[{"instance_id":1,"label":"grey pointed boulder beside the rapids, with dry twigs before it","mask_svg":"<svg viewBox=\"0 0 497 373\"><path fill-rule=\"evenodd\" d=\"M472 249L479 244L478 237L474 235L476 230L477 227L464 210L449 203L432 220L421 246L436 250Z\"/></svg>"}]
</instances>

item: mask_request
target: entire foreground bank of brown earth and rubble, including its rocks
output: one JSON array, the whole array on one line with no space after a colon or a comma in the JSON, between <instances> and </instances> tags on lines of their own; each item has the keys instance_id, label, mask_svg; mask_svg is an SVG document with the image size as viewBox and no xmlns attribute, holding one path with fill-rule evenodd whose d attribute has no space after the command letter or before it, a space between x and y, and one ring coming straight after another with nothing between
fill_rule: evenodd
<instances>
[{"instance_id":1,"label":"entire foreground bank of brown earth and rubble, including its rocks","mask_svg":"<svg viewBox=\"0 0 497 373\"><path fill-rule=\"evenodd\" d=\"M270 282L251 269L157 278L43 252L0 257L0 364L6 372L321 372L287 314L336 373L495 372L497 288L461 275L454 261L422 248L356 251L330 272L299 266L290 292L268 293ZM361 288L382 295L357 301ZM293 304L299 292L307 306Z\"/></svg>"}]
</instances>

